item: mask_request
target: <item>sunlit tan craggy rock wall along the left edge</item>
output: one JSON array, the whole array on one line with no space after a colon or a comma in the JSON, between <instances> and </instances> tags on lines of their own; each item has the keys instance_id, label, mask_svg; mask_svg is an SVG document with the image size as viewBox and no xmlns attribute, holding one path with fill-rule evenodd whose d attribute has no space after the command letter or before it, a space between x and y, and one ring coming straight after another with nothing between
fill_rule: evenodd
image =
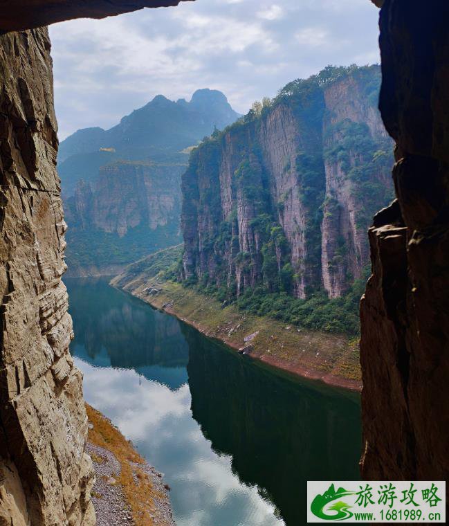
<instances>
[{"instance_id":1,"label":"sunlit tan craggy rock wall along the left edge","mask_svg":"<svg viewBox=\"0 0 449 526\"><path fill-rule=\"evenodd\" d=\"M0 37L0 523L91 525L46 29Z\"/></svg>"}]
</instances>

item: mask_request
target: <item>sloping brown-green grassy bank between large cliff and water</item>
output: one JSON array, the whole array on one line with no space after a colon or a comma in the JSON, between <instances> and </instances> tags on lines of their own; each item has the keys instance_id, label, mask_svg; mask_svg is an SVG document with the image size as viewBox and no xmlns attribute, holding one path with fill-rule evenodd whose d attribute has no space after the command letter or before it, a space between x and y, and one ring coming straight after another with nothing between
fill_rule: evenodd
<instances>
[{"instance_id":1,"label":"sloping brown-green grassy bank between large cliff and water","mask_svg":"<svg viewBox=\"0 0 449 526\"><path fill-rule=\"evenodd\" d=\"M164 278L161 269L169 259L167 251L151 255L128 266L111 284L277 368L360 390L356 337L298 328L237 305L223 307L213 296Z\"/></svg>"}]
</instances>

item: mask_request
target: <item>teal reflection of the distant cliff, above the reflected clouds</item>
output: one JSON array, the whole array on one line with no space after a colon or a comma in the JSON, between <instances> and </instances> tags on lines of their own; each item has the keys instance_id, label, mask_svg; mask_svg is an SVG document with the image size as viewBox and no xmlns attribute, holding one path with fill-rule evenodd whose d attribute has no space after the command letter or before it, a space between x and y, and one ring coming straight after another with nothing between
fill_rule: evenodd
<instances>
[{"instance_id":1,"label":"teal reflection of the distant cliff, above the reflected clouds","mask_svg":"<svg viewBox=\"0 0 449 526\"><path fill-rule=\"evenodd\" d=\"M98 366L133 368L146 377L154 365L185 368L189 350L176 318L109 287L104 279L68 279L66 286L76 323L75 356Z\"/></svg>"}]
</instances>

